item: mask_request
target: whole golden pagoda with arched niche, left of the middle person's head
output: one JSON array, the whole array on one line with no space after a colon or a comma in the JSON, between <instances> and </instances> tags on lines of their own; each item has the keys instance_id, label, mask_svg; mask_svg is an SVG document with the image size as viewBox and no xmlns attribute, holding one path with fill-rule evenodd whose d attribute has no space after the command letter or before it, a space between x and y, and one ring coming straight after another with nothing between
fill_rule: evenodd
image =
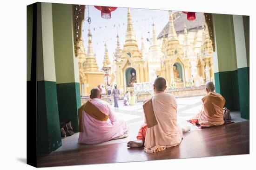
<instances>
[{"instance_id":1,"label":"whole golden pagoda with arched niche, left of the middle person's head","mask_svg":"<svg viewBox=\"0 0 256 170\"><path fill-rule=\"evenodd\" d=\"M148 68L138 48L135 32L132 24L130 8L127 13L127 30L125 44L121 53L121 60L116 62L116 81L121 93L134 90L133 84L148 81Z\"/></svg>"}]
</instances>

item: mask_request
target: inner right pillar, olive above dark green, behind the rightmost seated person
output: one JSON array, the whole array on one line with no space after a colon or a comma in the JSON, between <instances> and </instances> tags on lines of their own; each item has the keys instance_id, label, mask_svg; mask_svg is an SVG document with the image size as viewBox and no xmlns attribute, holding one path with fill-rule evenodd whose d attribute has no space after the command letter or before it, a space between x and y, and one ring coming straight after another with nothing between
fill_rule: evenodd
<instances>
[{"instance_id":1,"label":"inner right pillar, olive above dark green, behind the rightmost seated person","mask_svg":"<svg viewBox=\"0 0 256 170\"><path fill-rule=\"evenodd\" d=\"M226 99L225 107L240 110L236 44L232 15L213 14L216 52L215 64L216 92Z\"/></svg>"}]
</instances>

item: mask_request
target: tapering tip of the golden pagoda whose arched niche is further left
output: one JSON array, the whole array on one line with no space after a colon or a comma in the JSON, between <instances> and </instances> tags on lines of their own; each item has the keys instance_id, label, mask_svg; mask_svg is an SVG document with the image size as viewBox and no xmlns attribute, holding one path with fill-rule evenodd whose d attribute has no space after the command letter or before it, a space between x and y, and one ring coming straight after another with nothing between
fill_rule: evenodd
<instances>
[{"instance_id":1,"label":"tapering tip of the golden pagoda whose arched niche is further left","mask_svg":"<svg viewBox=\"0 0 256 170\"><path fill-rule=\"evenodd\" d=\"M127 30L125 35L125 43L137 44L135 32L133 29L133 21L132 21L130 8L128 8L128 13L127 13Z\"/></svg>"}]
</instances>

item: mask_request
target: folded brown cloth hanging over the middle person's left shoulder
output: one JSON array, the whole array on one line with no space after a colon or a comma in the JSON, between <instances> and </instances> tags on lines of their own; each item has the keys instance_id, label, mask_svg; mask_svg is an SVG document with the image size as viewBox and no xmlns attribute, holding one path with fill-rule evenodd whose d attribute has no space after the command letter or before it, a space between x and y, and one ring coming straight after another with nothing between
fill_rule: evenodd
<instances>
[{"instance_id":1,"label":"folded brown cloth hanging over the middle person's left shoulder","mask_svg":"<svg viewBox=\"0 0 256 170\"><path fill-rule=\"evenodd\" d=\"M155 118L155 113L153 110L152 98L144 102L143 110L148 127L157 125L157 120Z\"/></svg>"}]
</instances>

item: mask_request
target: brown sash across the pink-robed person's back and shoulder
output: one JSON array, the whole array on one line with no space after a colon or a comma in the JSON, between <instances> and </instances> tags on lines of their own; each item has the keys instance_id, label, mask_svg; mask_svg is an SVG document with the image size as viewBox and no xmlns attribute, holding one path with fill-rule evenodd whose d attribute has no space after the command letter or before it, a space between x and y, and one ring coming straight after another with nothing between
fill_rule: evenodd
<instances>
[{"instance_id":1,"label":"brown sash across the pink-robed person's back and shoulder","mask_svg":"<svg viewBox=\"0 0 256 170\"><path fill-rule=\"evenodd\" d=\"M107 121L109 117L108 115L102 113L98 107L94 106L90 101L87 101L78 109L79 132L83 132L83 111L96 120Z\"/></svg>"}]
</instances>

